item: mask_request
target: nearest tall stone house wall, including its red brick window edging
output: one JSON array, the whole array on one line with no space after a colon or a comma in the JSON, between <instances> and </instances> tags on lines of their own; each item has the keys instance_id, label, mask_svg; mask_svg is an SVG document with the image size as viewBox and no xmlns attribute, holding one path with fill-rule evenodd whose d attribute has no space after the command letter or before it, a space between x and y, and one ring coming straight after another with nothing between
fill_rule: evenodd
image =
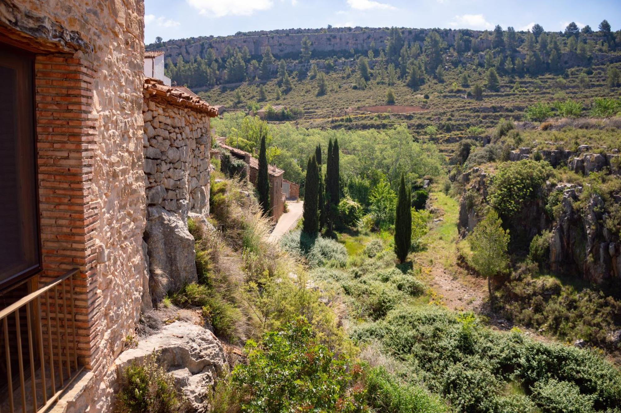
<instances>
[{"instance_id":1,"label":"nearest tall stone house wall, including its red brick window edging","mask_svg":"<svg viewBox=\"0 0 621 413\"><path fill-rule=\"evenodd\" d=\"M140 315L143 15L142 0L0 2L2 41L36 54L40 281L80 270L74 319L88 370L57 405L66 411L109 411L106 372Z\"/></svg>"}]
</instances>

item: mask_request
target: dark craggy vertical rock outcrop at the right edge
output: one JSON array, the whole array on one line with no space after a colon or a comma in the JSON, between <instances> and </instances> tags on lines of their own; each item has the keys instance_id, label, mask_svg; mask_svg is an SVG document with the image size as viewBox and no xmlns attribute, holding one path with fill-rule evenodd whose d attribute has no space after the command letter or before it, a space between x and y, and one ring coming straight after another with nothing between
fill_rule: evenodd
<instances>
[{"instance_id":1,"label":"dark craggy vertical rock outcrop at the right edge","mask_svg":"<svg viewBox=\"0 0 621 413\"><path fill-rule=\"evenodd\" d=\"M621 277L619 234L605 228L604 201L599 195L592 195L583 210L576 210L581 190L563 192L561 215L552 230L550 266L596 284L610 282Z\"/></svg>"}]
</instances>

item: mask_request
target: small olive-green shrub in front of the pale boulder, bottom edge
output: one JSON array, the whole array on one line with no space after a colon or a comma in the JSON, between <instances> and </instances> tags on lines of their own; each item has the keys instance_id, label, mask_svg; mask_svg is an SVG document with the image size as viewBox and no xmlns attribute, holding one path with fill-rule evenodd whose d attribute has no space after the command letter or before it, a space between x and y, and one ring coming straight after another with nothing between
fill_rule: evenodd
<instances>
[{"instance_id":1,"label":"small olive-green shrub in front of the pale boulder, bottom edge","mask_svg":"<svg viewBox=\"0 0 621 413\"><path fill-rule=\"evenodd\" d=\"M143 363L125 367L117 394L117 411L122 413L168 413L188 410L188 402L177 391L172 374L158 365L158 353Z\"/></svg>"}]
</instances>

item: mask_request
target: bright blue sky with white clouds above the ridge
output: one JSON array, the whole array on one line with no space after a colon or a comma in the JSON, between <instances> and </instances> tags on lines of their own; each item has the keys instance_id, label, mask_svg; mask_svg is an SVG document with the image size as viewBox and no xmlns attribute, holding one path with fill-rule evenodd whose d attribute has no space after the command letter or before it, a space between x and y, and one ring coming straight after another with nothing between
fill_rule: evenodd
<instances>
[{"instance_id":1,"label":"bright blue sky with white clouds above the ridge","mask_svg":"<svg viewBox=\"0 0 621 413\"><path fill-rule=\"evenodd\" d=\"M145 0L145 42L327 27L563 30L571 21L621 28L620 0Z\"/></svg>"}]
</instances>

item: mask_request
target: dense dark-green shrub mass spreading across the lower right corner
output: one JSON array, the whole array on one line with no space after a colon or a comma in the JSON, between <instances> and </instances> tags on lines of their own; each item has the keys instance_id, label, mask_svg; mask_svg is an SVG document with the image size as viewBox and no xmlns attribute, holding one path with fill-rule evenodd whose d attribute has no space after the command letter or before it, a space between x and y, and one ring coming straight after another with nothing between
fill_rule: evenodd
<instances>
[{"instance_id":1,"label":"dense dark-green shrub mass spreading across the lower right corner","mask_svg":"<svg viewBox=\"0 0 621 413\"><path fill-rule=\"evenodd\" d=\"M358 343L378 340L411 369L410 384L423 381L455 412L546 412L548 399L538 395L545 394L539 389L551 379L573 383L574 397L594 397L595 411L621 402L621 373L595 351L540 343L519 332L492 332L477 324L469 315L458 319L442 308L397 307L383 320L356 327L352 336ZM507 394L512 384L518 394Z\"/></svg>"}]
</instances>

